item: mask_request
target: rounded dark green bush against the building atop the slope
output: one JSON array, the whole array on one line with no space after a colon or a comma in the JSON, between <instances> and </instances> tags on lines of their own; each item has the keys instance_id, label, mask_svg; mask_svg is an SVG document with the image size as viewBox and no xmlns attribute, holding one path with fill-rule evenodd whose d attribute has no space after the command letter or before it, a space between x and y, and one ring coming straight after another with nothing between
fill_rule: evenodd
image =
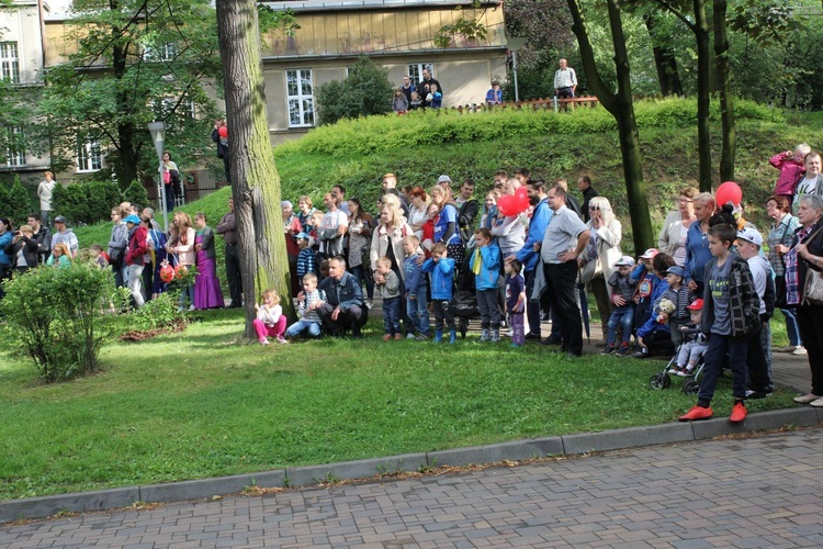
<instances>
[{"instance_id":1,"label":"rounded dark green bush against the building atop the slope","mask_svg":"<svg viewBox=\"0 0 823 549\"><path fill-rule=\"evenodd\" d=\"M392 82L386 69L368 57L360 57L343 80L332 80L317 89L320 125L342 119L357 119L392 111Z\"/></svg>"}]
</instances>

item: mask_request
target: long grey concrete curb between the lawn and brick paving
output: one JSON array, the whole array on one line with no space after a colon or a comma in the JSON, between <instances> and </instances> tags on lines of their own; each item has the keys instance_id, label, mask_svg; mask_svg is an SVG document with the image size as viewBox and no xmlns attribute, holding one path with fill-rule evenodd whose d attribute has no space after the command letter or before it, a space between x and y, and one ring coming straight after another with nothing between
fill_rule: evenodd
<instances>
[{"instance_id":1,"label":"long grey concrete curb between the lawn and brick paving","mask_svg":"<svg viewBox=\"0 0 823 549\"><path fill-rule=\"evenodd\" d=\"M739 425L729 423L726 417L719 417L706 422L675 423L601 433L582 433L563 437L534 438L427 453L408 453L325 466L278 469L215 479L27 497L0 503L0 523L21 518L42 518L60 512L87 513L127 507L135 502L162 503L211 498L216 495L236 494L249 486L302 488L342 480L391 475L397 472L421 471L443 466L459 467L550 456L574 456L591 451L692 442L722 435L779 429L789 426L813 427L821 424L823 424L823 408L776 410L751 414L745 422Z\"/></svg>"}]
</instances>

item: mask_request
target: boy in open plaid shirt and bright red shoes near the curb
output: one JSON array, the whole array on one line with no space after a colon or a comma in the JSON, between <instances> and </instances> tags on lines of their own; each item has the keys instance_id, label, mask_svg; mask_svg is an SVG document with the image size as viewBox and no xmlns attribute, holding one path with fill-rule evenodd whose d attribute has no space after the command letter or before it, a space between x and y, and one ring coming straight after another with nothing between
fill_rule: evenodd
<instances>
[{"instance_id":1,"label":"boy in open plaid shirt and bright red shoes near the curb","mask_svg":"<svg viewBox=\"0 0 823 549\"><path fill-rule=\"evenodd\" d=\"M748 264L731 251L736 235L735 227L725 223L709 229L709 251L713 257L704 270L706 290L700 323L703 334L709 335L709 347L706 349L697 405L679 417L681 422L709 419L713 415L711 399L726 355L732 369L734 396L730 421L740 423L746 418L746 349L748 338L759 327L759 298Z\"/></svg>"}]
</instances>

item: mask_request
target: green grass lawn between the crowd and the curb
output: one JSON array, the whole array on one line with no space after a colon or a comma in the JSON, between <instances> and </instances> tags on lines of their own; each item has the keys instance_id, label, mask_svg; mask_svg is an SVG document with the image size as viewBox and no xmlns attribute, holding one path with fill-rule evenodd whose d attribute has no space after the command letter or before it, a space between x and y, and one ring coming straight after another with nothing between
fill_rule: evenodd
<instances>
[{"instance_id":1,"label":"green grass lawn between the crowd and the curb","mask_svg":"<svg viewBox=\"0 0 823 549\"><path fill-rule=\"evenodd\" d=\"M376 337L244 345L241 312L116 343L103 370L45 385L0 355L0 500L669 423L694 404L653 391L661 361L541 346ZM749 410L791 406L778 391ZM730 381L714 402L731 407Z\"/></svg>"}]
</instances>

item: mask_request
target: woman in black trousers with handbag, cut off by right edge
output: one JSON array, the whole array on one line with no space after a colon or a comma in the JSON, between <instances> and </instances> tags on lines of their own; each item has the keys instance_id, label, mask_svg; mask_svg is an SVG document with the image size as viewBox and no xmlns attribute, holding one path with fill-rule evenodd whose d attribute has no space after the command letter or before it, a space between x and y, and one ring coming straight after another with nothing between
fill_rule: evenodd
<instances>
[{"instance_id":1,"label":"woman in black trousers with handbag, cut off by right edge","mask_svg":"<svg viewBox=\"0 0 823 549\"><path fill-rule=\"evenodd\" d=\"M823 407L823 199L805 194L800 199L798 217L802 227L786 254L786 301L798 307L812 390L794 402Z\"/></svg>"}]
</instances>

